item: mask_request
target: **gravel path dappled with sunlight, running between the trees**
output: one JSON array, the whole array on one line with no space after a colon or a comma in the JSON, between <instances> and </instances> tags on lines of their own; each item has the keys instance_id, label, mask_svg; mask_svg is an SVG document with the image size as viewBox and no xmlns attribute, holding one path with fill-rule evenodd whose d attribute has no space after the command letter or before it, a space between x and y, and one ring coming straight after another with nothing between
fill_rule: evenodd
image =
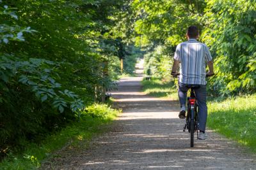
<instances>
[{"instance_id":1,"label":"gravel path dappled with sunlight, running between the trees","mask_svg":"<svg viewBox=\"0 0 256 170\"><path fill-rule=\"evenodd\" d=\"M179 103L145 96L141 80L141 74L123 78L112 93L124 113L111 132L88 150L55 159L54 169L256 169L255 155L211 131L190 148Z\"/></svg>"}]
</instances>

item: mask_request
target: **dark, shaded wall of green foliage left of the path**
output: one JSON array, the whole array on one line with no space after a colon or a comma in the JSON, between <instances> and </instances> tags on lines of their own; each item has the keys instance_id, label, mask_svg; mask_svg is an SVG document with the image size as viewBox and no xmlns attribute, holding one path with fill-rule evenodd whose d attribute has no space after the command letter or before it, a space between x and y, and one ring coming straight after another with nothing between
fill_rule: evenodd
<instances>
[{"instance_id":1,"label":"dark, shaded wall of green foliage left of the path","mask_svg":"<svg viewBox=\"0 0 256 170\"><path fill-rule=\"evenodd\" d=\"M113 17L123 4L0 1L0 157L79 119L115 87Z\"/></svg>"}]
</instances>

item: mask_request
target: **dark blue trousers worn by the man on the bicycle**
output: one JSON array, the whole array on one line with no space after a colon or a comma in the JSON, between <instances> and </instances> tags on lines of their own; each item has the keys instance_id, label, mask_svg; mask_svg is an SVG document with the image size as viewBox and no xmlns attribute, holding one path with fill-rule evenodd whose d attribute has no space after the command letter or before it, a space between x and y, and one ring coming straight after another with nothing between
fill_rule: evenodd
<instances>
[{"instance_id":1,"label":"dark blue trousers worn by the man on the bicycle","mask_svg":"<svg viewBox=\"0 0 256 170\"><path fill-rule=\"evenodd\" d=\"M188 92L188 88L186 86L186 84L179 83L178 94L180 99L180 106L186 106ZM205 131L205 125L207 120L206 85L200 85L199 89L195 89L195 96L198 102L198 129L200 131Z\"/></svg>"}]
</instances>

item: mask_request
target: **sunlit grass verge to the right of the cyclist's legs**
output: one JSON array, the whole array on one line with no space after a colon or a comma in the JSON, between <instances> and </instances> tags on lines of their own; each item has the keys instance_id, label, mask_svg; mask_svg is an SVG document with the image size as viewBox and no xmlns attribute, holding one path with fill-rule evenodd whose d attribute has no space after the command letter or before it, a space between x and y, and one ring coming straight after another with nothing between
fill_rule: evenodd
<instances>
[{"instance_id":1,"label":"sunlit grass verge to the right of the cyclist's legs","mask_svg":"<svg viewBox=\"0 0 256 170\"><path fill-rule=\"evenodd\" d=\"M256 152L256 95L209 102L207 125Z\"/></svg>"}]
</instances>

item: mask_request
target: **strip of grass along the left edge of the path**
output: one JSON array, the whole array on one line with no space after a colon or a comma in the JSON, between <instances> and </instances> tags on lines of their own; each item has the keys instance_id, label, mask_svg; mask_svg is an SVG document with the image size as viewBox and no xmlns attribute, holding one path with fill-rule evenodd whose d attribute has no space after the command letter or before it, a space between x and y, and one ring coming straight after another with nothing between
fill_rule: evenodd
<instances>
[{"instance_id":1,"label":"strip of grass along the left edge of the path","mask_svg":"<svg viewBox=\"0 0 256 170\"><path fill-rule=\"evenodd\" d=\"M118 113L106 104L93 104L83 111L80 122L74 122L62 131L47 136L40 145L30 143L22 153L9 153L0 162L0 169L37 169L42 160L51 157L52 153L65 145L71 148L86 147L80 145L81 141L88 143L93 135L106 131L100 126L109 124Z\"/></svg>"}]
</instances>

